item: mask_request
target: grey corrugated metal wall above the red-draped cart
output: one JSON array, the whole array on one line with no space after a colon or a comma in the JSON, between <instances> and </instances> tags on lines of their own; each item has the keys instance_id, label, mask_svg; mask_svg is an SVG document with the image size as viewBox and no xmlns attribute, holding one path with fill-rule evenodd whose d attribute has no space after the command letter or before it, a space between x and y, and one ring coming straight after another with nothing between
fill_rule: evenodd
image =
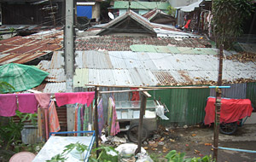
<instances>
[{"instance_id":1,"label":"grey corrugated metal wall above the red-draped cart","mask_svg":"<svg viewBox=\"0 0 256 162\"><path fill-rule=\"evenodd\" d=\"M247 98L247 84L224 84L230 89L222 90L222 97L244 99ZM210 90L210 96L216 96L215 89Z\"/></svg>"}]
</instances>

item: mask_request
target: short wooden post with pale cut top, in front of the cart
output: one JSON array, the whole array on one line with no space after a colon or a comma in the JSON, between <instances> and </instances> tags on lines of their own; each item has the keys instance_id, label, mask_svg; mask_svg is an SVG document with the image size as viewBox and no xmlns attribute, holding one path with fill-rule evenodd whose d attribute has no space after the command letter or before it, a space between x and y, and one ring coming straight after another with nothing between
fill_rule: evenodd
<instances>
[{"instance_id":1,"label":"short wooden post with pale cut top, in front of the cart","mask_svg":"<svg viewBox=\"0 0 256 162\"><path fill-rule=\"evenodd\" d=\"M137 136L137 149L135 154L141 153L142 148L142 136L143 136L143 117L146 111L147 105L147 97L151 97L148 92L143 91L142 99L141 99L141 107L140 107L140 119L139 119L139 127L138 127L138 136Z\"/></svg>"}]
</instances>

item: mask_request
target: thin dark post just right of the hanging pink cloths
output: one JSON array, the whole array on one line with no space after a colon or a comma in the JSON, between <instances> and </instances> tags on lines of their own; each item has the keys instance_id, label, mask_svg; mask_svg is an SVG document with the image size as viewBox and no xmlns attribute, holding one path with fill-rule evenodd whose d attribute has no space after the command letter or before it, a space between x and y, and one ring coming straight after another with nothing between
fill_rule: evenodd
<instances>
[{"instance_id":1,"label":"thin dark post just right of the hanging pink cloths","mask_svg":"<svg viewBox=\"0 0 256 162\"><path fill-rule=\"evenodd\" d=\"M99 125L98 125L98 87L95 87L95 113L94 113L94 130L95 130L95 134L96 134L96 148L99 147ZM99 150L96 150L96 158L99 157Z\"/></svg>"}]
</instances>

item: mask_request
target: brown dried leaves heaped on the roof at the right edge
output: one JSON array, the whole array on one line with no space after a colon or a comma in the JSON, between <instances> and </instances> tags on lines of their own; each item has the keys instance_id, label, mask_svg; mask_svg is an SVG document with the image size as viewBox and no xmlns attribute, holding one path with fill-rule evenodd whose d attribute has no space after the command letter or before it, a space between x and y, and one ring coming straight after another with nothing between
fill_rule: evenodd
<instances>
[{"instance_id":1,"label":"brown dried leaves heaped on the roof at the right edge","mask_svg":"<svg viewBox=\"0 0 256 162\"><path fill-rule=\"evenodd\" d=\"M227 59L233 60L233 61L240 61L240 62L247 62L247 61L256 62L256 54L251 52L240 52L236 55L227 56Z\"/></svg>"}]
</instances>

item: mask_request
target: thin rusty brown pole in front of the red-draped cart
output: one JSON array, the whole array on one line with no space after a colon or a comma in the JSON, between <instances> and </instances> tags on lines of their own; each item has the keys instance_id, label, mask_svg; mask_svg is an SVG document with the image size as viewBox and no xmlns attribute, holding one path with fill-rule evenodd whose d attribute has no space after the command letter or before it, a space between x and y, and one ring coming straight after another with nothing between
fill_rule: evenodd
<instances>
[{"instance_id":1,"label":"thin rusty brown pole in front of the red-draped cart","mask_svg":"<svg viewBox=\"0 0 256 162\"><path fill-rule=\"evenodd\" d=\"M218 63L218 86L222 84L222 69L223 69L223 44L219 47L219 63ZM218 131L221 109L221 89L216 90L215 102L215 122L214 122L214 137L213 137L213 159L218 161Z\"/></svg>"}]
</instances>

